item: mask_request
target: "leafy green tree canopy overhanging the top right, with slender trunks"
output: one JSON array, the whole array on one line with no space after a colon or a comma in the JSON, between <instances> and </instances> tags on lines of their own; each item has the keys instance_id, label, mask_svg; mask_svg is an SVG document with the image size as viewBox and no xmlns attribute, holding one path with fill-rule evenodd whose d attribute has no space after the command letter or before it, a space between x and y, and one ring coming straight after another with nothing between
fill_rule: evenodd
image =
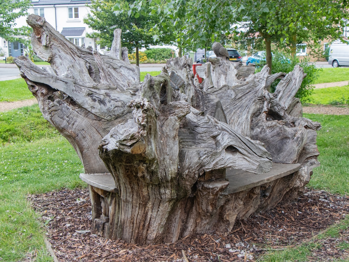
<instances>
[{"instance_id":1,"label":"leafy green tree canopy overhanging the top right, with slender trunks","mask_svg":"<svg viewBox=\"0 0 349 262\"><path fill-rule=\"evenodd\" d=\"M137 14L144 1L129 6ZM348 3L341 0L151 0L151 13L161 17L161 25L173 24L184 39L202 46L208 39L223 35L240 39L262 37L267 65L272 68L271 45L284 43L296 53L297 36L308 32L313 39L339 38ZM234 24L241 24L242 26Z\"/></svg>"}]
</instances>

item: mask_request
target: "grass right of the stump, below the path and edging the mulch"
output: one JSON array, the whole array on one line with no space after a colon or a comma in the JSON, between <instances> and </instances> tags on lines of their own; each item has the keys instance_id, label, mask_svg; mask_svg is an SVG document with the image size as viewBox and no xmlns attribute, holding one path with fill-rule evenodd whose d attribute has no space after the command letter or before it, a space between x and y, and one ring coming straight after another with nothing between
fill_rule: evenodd
<instances>
[{"instance_id":1,"label":"grass right of the stump, below the path and edging the mulch","mask_svg":"<svg viewBox=\"0 0 349 262\"><path fill-rule=\"evenodd\" d=\"M317 137L320 152L318 157L321 166L313 170L308 187L327 190L341 195L349 193L349 115L319 115L304 114L304 117L319 121L322 125ZM328 237L336 237L339 231L349 227L347 216L341 223L333 225L326 233L319 235L314 241L296 248L272 250L263 255L259 262L293 262L309 261L306 256L311 255L318 241ZM348 250L348 243L338 243L337 247ZM348 260L340 260L348 261Z\"/></svg>"}]
</instances>

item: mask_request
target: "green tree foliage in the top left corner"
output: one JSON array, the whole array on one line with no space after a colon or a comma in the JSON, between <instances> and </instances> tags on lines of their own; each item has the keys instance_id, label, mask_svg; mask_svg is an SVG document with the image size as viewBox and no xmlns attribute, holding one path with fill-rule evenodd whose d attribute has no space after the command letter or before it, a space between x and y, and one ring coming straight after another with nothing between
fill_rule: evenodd
<instances>
[{"instance_id":1,"label":"green tree foliage in the top left corner","mask_svg":"<svg viewBox=\"0 0 349 262\"><path fill-rule=\"evenodd\" d=\"M9 41L19 41L28 45L24 38L15 36L28 36L31 30L29 27L14 28L15 20L18 17L27 15L30 0L1 0L0 1L0 37Z\"/></svg>"}]
</instances>

